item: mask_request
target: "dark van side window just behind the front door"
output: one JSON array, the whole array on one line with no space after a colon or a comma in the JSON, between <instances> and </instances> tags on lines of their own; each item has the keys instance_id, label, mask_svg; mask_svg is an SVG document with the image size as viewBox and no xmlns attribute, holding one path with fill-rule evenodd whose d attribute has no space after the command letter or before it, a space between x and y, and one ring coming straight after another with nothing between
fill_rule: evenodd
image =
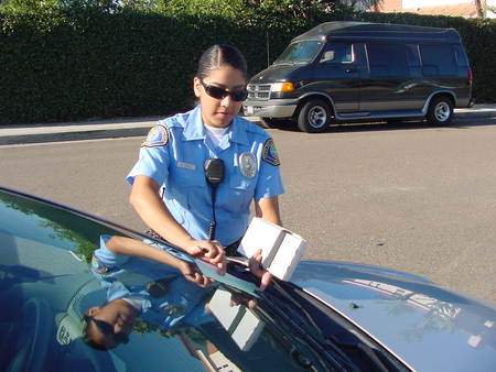
<instances>
[{"instance_id":1,"label":"dark van side window just behind the front door","mask_svg":"<svg viewBox=\"0 0 496 372\"><path fill-rule=\"evenodd\" d=\"M368 43L370 77L407 76L408 57L405 44Z\"/></svg>"}]
</instances>

